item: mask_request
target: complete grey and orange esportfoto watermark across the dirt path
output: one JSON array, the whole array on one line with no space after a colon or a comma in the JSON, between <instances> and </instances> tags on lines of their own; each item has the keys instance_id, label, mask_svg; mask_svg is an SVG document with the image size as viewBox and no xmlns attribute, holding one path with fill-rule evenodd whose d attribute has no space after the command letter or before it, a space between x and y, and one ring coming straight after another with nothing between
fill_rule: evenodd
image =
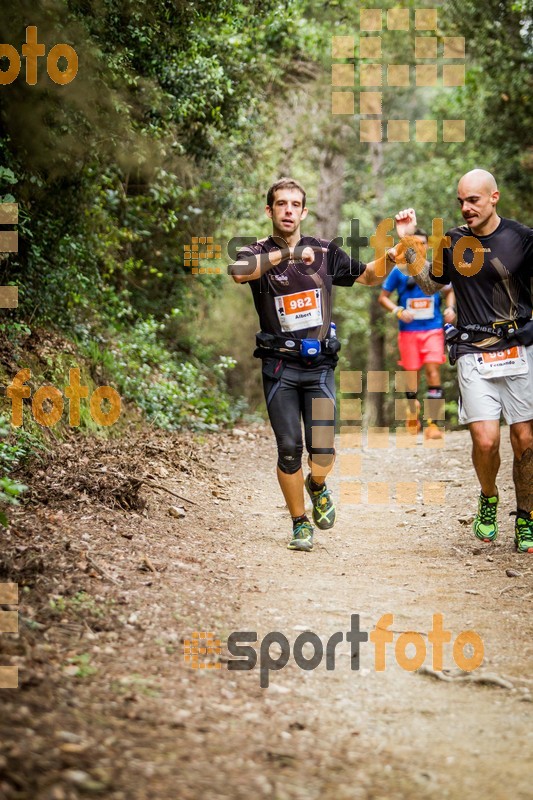
<instances>
[{"instance_id":1,"label":"complete grey and orange esportfoto watermark across the dirt path","mask_svg":"<svg viewBox=\"0 0 533 800\"><path fill-rule=\"evenodd\" d=\"M374 645L374 669L376 672L383 672L387 668L387 656L390 653L387 645L394 641L394 631L391 626L394 624L394 614L383 614L374 629L370 632L361 630L359 624L359 614L352 614L350 617L350 630L343 634L342 631L333 633L325 645L326 670L335 669L336 648L341 642L346 641L350 644L350 668L359 670L361 644L370 641ZM221 653L220 640L215 638L212 632L197 632L192 634L191 640L185 640L185 663L195 668L210 667L220 669L220 662L213 660L199 661L199 655L219 655ZM427 638L428 645L426 645ZM202 646L200 640L205 640ZM270 683L270 673L277 672L287 666L291 656L291 645L287 637L280 631L267 633L259 646L259 656L257 648L252 647L251 643L257 642L256 631L234 631L228 636L228 651L235 658L227 660L227 668L231 671L248 672L256 668L259 657L259 685L266 689ZM420 669L424 662L431 645L432 668L441 671L444 665L444 645L452 643L452 632L444 628L444 618L442 614L433 614L432 627L427 634L418 631L404 631L400 633L394 642L394 659L396 664L408 672L415 672ZM270 649L272 645L277 645L279 652L272 655ZM303 649L306 645L313 648L313 654L308 657L304 655ZM407 654L407 649L411 647L414 653ZM469 648L469 654L465 654L465 648ZM191 649L192 648L192 649ZM461 631L455 637L452 644L452 656L459 669L465 672L472 672L483 663L485 648L483 639L473 630ZM292 656L296 665L305 671L316 669L324 659L324 644L318 634L313 631L304 631L294 640L292 646ZM191 663L191 659L194 662Z\"/></svg>"}]
</instances>

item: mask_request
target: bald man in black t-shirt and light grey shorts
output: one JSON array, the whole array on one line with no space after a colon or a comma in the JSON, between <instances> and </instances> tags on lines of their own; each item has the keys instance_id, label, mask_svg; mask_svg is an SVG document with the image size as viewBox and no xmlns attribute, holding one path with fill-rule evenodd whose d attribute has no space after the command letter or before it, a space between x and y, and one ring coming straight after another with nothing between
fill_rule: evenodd
<instances>
[{"instance_id":1,"label":"bald man in black t-shirt and light grey shorts","mask_svg":"<svg viewBox=\"0 0 533 800\"><path fill-rule=\"evenodd\" d=\"M481 484L474 533L498 535L500 414L510 427L516 492L515 546L533 553L533 231L497 214L500 193L490 172L474 169L459 181L457 199L466 225L453 228L442 261L415 275L427 294L451 282L457 329L447 335L457 359L459 421L469 427L472 461ZM397 216L399 235L414 231L413 209ZM413 271L413 270L411 270Z\"/></svg>"}]
</instances>

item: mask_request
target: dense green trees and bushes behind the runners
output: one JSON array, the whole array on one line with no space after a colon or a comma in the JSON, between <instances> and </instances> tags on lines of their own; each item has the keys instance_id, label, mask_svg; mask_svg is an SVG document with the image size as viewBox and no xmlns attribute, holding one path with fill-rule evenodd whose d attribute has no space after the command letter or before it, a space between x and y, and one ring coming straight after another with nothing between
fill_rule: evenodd
<instances>
[{"instance_id":1,"label":"dense green trees and bushes behind the runners","mask_svg":"<svg viewBox=\"0 0 533 800\"><path fill-rule=\"evenodd\" d=\"M413 15L423 4L386 4L398 5ZM79 72L57 86L40 59L37 85L23 67L0 87L0 202L20 208L20 251L0 262L0 284L20 292L19 308L0 312L6 346L14 334L23 348L32 330L58 330L155 424L209 429L242 414L237 398L260 402L255 315L249 290L224 274L224 243L268 232L264 194L280 174L308 188L306 230L331 237L346 238L351 218L370 235L406 205L425 227L433 217L449 226L456 180L473 166L500 180L501 212L527 222L533 4L425 5L439 8L439 36L466 37L466 85L384 90L384 112L464 118L461 144L369 146L357 118L331 115L331 37L357 40L359 9L372 2L11 4L0 41L20 52L25 27L36 25L47 49L75 46ZM415 63L403 33L385 31L383 42L385 63ZM193 236L223 245L221 261L204 262L222 265L221 276L184 265ZM365 368L372 325L384 333L383 368L395 368L395 326L372 318L374 302L359 287L338 293L344 367ZM451 392L452 373L446 383Z\"/></svg>"}]
</instances>

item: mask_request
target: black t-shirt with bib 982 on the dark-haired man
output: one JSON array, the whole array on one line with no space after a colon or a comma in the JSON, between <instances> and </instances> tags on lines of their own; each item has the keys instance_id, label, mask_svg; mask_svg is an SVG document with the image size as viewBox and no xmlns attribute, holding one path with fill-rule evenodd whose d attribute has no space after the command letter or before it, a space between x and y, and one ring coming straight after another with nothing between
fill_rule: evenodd
<instances>
[{"instance_id":1,"label":"black t-shirt with bib 982 on the dark-haired man","mask_svg":"<svg viewBox=\"0 0 533 800\"><path fill-rule=\"evenodd\" d=\"M331 323L332 286L353 286L366 264L351 259L344 250L326 239L302 236L298 247L314 245L327 248L315 253L313 264L283 261L261 278L248 281L261 330L293 339L324 339ZM279 250L272 236L243 247L237 261L250 255ZM252 262L255 266L255 259Z\"/></svg>"}]
</instances>

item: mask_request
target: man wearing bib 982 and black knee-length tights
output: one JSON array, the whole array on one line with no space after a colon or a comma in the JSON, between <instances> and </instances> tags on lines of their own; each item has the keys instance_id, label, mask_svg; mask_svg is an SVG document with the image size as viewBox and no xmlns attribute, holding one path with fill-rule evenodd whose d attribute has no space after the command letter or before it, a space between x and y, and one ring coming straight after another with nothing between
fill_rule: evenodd
<instances>
[{"instance_id":1,"label":"man wearing bib 982 and black knee-length tights","mask_svg":"<svg viewBox=\"0 0 533 800\"><path fill-rule=\"evenodd\" d=\"M273 235L243 248L229 272L250 284L261 331L254 355L263 362L263 388L278 447L278 480L292 516L290 550L309 551L314 529L305 513L304 485L313 520L326 530L335 505L326 476L335 450L335 379L340 343L331 329L332 286L373 286L394 262L389 254L369 264L351 259L333 242L301 236L305 191L290 178L270 187L267 216ZM391 239L392 242L392 239ZM389 251L394 257L403 248ZM310 472L302 473L302 428Z\"/></svg>"}]
</instances>

